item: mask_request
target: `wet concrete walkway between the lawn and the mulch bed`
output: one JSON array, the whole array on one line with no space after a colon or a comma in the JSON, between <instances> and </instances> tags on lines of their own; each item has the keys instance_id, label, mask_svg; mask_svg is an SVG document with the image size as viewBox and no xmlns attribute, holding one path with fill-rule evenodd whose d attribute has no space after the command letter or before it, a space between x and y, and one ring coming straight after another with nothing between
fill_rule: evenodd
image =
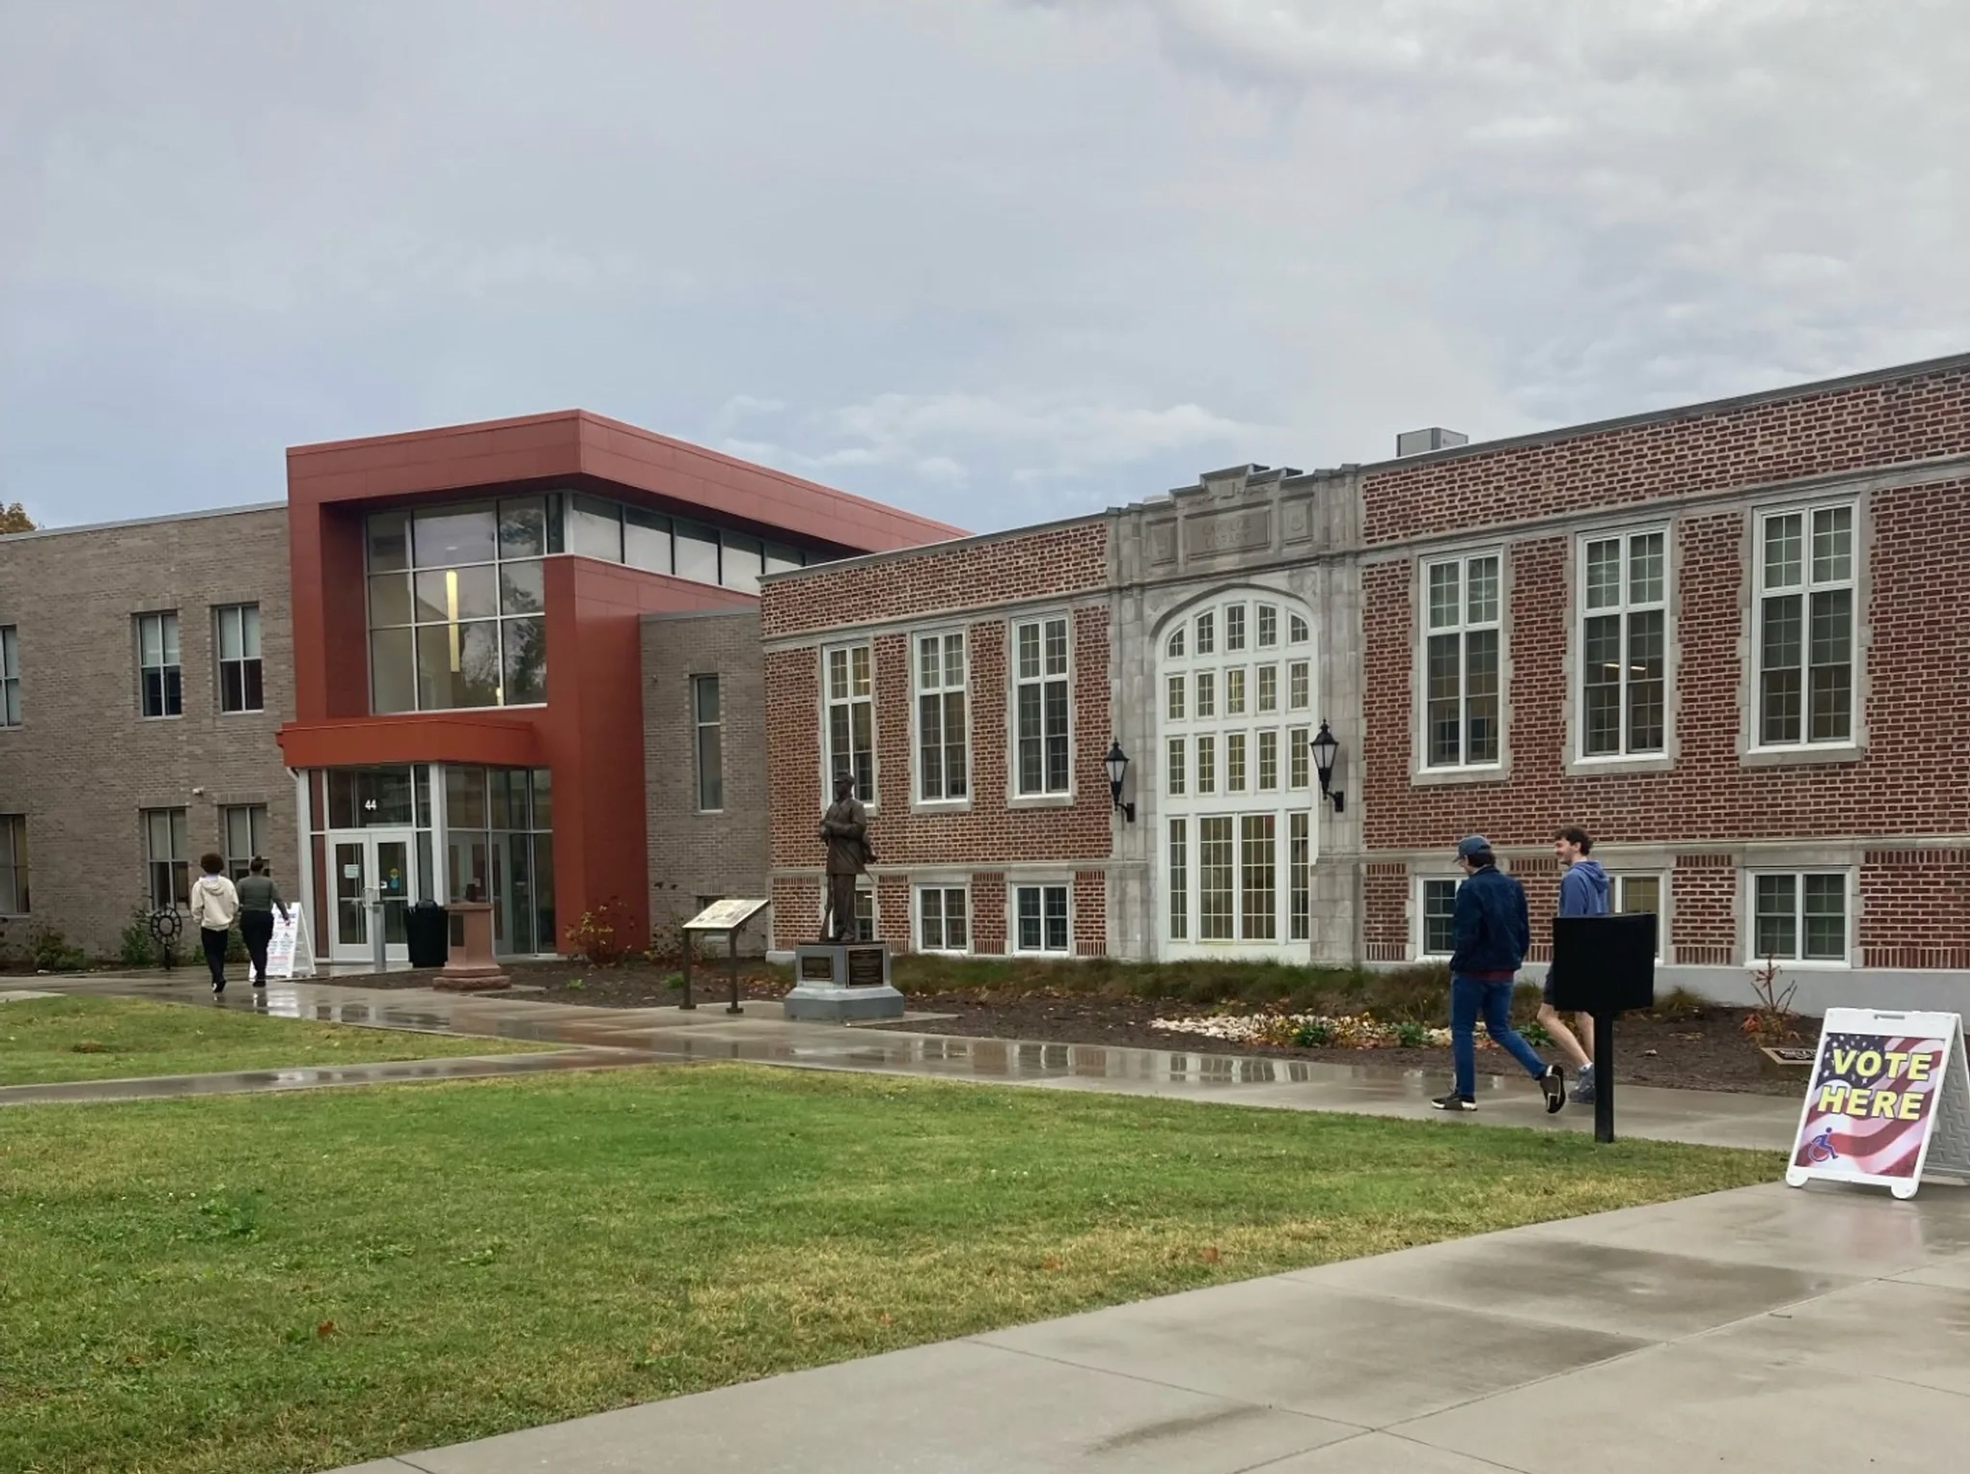
<instances>
[{"instance_id":1,"label":"wet concrete walkway between the lawn and the mulch bed","mask_svg":"<svg viewBox=\"0 0 1970 1474\"><path fill-rule=\"evenodd\" d=\"M380 1080L445 1080L473 1074L605 1068L624 1064L691 1064L743 1060L806 1070L904 1074L973 1084L1015 1084L1040 1090L1206 1100L1300 1111L1428 1117L1446 1129L1478 1123L1554 1131L1592 1131L1594 1113L1568 1107L1546 1115L1531 1082L1479 1078L1476 1115L1442 1115L1428 1100L1444 1080L1420 1070L1379 1064L1277 1060L1194 1050L1115 1048L1107 1044L1038 1044L938 1035L936 1015L906 1015L924 1033L845 1025L788 1023L778 1003L747 1001L743 1015L725 1005L682 1009L599 1009L530 999L526 993L439 993L435 989L366 989L347 983L274 983L264 993L230 987L215 999L197 977L177 973L89 975L35 979L37 989L152 997L197 1007L229 1007L288 1019L353 1027L410 1029L483 1038L526 1038L561 1044L540 1056L433 1060L418 1066L341 1066L323 1070L244 1072L234 1076L173 1076L146 1082L87 1082L77 1086L0 1088L0 1106L37 1100L130 1100L213 1094L219 1090L303 1090L309 1086L374 1084ZM374 1080L353 1078L362 1070ZM398 1074L382 1074L382 1072ZM410 1070L410 1074L404 1074ZM268 1076L278 1076L270 1080ZM229 1082L229 1084L221 1084ZM65 1092L51 1096L47 1092ZM1789 1096L1738 1096L1702 1090L1629 1086L1617 1094L1617 1131L1661 1141L1783 1151L1799 1121Z\"/></svg>"}]
</instances>

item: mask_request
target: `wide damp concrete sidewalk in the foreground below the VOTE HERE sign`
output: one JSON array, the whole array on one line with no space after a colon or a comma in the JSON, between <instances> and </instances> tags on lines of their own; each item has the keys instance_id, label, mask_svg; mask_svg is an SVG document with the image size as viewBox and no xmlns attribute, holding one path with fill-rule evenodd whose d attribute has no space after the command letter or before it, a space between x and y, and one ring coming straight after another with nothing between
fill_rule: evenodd
<instances>
[{"instance_id":1,"label":"wide damp concrete sidewalk in the foreground below the VOTE HERE sign","mask_svg":"<svg viewBox=\"0 0 1970 1474\"><path fill-rule=\"evenodd\" d=\"M1970 1192L1629 1208L971 1336L361 1474L1960 1468ZM345 1470L343 1474L357 1474Z\"/></svg>"}]
</instances>

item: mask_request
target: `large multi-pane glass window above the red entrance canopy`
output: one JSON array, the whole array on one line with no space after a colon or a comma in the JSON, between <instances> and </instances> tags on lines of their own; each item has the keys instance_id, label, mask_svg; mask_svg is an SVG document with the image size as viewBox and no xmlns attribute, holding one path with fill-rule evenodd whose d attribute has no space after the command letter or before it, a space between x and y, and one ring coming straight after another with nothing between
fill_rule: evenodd
<instances>
[{"instance_id":1,"label":"large multi-pane glass window above the red entrance canopy","mask_svg":"<svg viewBox=\"0 0 1970 1474\"><path fill-rule=\"evenodd\" d=\"M571 499L567 534L607 518ZM601 506L613 508L613 502ZM621 560L621 518L615 522ZM370 709L530 705L548 696L542 497L368 518Z\"/></svg>"}]
</instances>

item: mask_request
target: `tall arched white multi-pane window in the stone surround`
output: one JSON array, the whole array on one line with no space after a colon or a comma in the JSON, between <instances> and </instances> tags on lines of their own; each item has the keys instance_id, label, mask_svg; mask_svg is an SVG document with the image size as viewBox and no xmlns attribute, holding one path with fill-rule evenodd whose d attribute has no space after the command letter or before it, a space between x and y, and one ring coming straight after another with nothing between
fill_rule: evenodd
<instances>
[{"instance_id":1,"label":"tall arched white multi-pane window in the stone surround","mask_svg":"<svg viewBox=\"0 0 1970 1474\"><path fill-rule=\"evenodd\" d=\"M1312 613L1225 589L1162 633L1162 956L1304 958L1312 934Z\"/></svg>"}]
</instances>

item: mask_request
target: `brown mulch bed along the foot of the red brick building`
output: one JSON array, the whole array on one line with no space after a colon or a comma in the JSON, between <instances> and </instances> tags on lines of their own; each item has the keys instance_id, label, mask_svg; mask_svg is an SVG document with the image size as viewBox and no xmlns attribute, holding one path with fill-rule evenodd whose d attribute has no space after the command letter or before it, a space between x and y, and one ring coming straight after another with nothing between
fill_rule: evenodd
<instances>
[{"instance_id":1,"label":"brown mulch bed along the foot of the red brick building","mask_svg":"<svg viewBox=\"0 0 1970 1474\"><path fill-rule=\"evenodd\" d=\"M792 985L784 970L760 962L741 962L741 997L778 999ZM674 1007L684 999L676 987L678 970L652 964L585 968L567 962L514 962L506 968L514 983L528 991L494 993L504 999L577 1003L603 1009ZM382 977L351 977L353 987L429 987L429 972L394 972ZM540 989L540 991L532 991ZM691 993L699 1005L723 1003L729 981L723 962L691 970ZM1109 997L1099 993L1001 993L995 989L950 989L912 993L916 1013L952 1015L936 1023L863 1025L908 1029L973 1038L1022 1038L1044 1044L1119 1044L1125 1048L1184 1050L1190 1054L1261 1054L1330 1064L1379 1064L1442 1072L1450 1078L1448 1048L1275 1048L1233 1044L1202 1035L1150 1029L1152 1019L1180 1019L1208 1013L1176 999ZM1803 1021L1810 1040L1812 1021ZM1741 1009L1704 1009L1698 1017L1657 1019L1627 1015L1615 1029L1615 1076L1633 1086L1678 1090L1734 1090L1765 1096L1797 1096L1805 1090L1805 1070L1789 1076L1767 1074L1759 1052L1741 1033ZM1479 1040L1483 1033L1479 1031ZM1556 1048L1543 1054L1558 1060ZM1517 1064L1503 1050L1479 1048L1481 1074L1513 1074Z\"/></svg>"}]
</instances>

